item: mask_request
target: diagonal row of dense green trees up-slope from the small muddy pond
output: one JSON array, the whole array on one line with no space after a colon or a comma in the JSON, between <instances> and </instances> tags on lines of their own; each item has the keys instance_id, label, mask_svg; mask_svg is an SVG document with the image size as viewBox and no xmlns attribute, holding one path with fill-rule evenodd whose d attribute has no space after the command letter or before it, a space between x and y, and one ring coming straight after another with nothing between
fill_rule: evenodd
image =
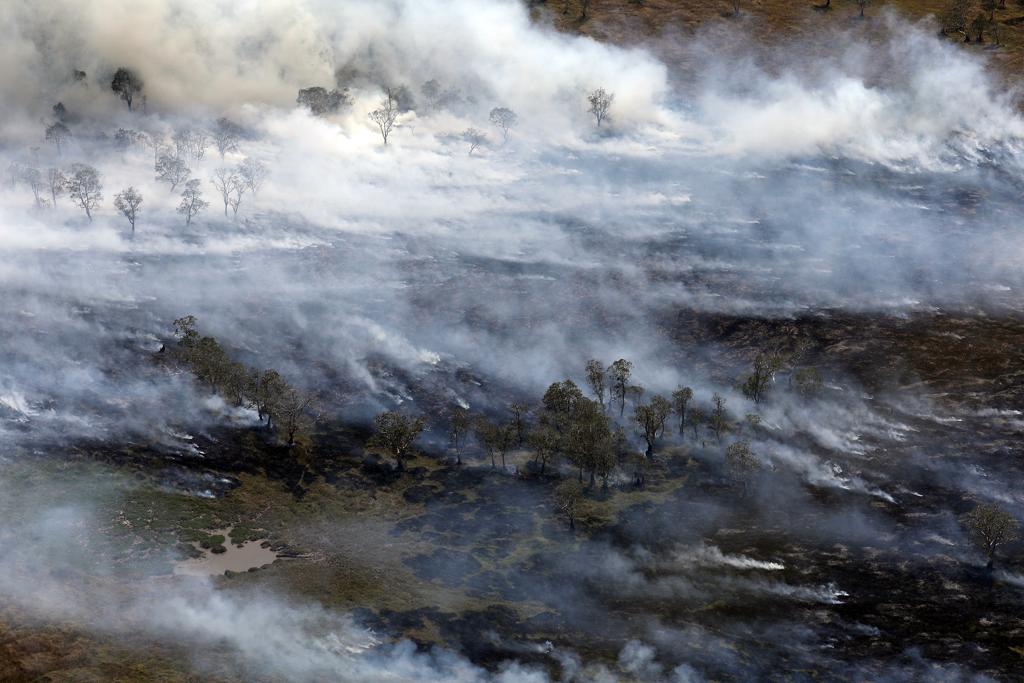
<instances>
[{"instance_id":1,"label":"diagonal row of dense green trees up-slope from the small muddy pond","mask_svg":"<svg viewBox=\"0 0 1024 683\"><path fill-rule=\"evenodd\" d=\"M213 337L203 336L194 315L174 321L175 355L211 391L236 407L256 411L268 430L276 430L289 445L318 419L316 394L289 384L274 370L247 368L232 360Z\"/></svg>"}]
</instances>

